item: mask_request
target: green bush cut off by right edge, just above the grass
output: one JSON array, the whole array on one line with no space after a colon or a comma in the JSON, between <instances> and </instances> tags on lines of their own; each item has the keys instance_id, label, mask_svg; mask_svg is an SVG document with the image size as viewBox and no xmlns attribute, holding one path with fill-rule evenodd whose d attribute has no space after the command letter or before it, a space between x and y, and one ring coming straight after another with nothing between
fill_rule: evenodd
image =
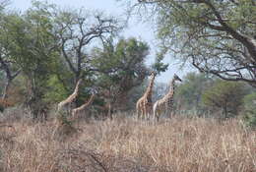
<instances>
[{"instance_id":1,"label":"green bush cut off by right edge, just above the grass","mask_svg":"<svg viewBox=\"0 0 256 172\"><path fill-rule=\"evenodd\" d=\"M246 95L243 102L245 108L244 123L248 127L256 128L256 92Z\"/></svg>"}]
</instances>

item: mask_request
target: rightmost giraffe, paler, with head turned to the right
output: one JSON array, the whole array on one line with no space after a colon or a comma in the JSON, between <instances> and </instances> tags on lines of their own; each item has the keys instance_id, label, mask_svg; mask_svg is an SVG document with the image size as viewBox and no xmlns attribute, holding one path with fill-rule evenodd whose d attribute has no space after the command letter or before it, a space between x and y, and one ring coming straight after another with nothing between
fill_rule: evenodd
<instances>
[{"instance_id":1,"label":"rightmost giraffe, paler, with head turned to the right","mask_svg":"<svg viewBox=\"0 0 256 172\"><path fill-rule=\"evenodd\" d=\"M154 104L154 118L157 118L158 121L160 120L160 114L162 112L171 113L173 109L173 95L176 81L182 82L182 80L176 74L174 74L174 77L170 82L168 92Z\"/></svg>"}]
</instances>

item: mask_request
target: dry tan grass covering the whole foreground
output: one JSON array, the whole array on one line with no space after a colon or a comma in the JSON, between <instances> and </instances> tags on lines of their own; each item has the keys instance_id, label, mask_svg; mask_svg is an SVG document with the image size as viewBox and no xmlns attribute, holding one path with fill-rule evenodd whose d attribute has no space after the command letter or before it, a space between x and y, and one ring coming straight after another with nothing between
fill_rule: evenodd
<instances>
[{"instance_id":1,"label":"dry tan grass covering the whole foreground","mask_svg":"<svg viewBox=\"0 0 256 172\"><path fill-rule=\"evenodd\" d=\"M256 171L256 132L237 120L129 118L77 122L65 140L53 122L0 128L0 171Z\"/></svg>"}]
</instances>

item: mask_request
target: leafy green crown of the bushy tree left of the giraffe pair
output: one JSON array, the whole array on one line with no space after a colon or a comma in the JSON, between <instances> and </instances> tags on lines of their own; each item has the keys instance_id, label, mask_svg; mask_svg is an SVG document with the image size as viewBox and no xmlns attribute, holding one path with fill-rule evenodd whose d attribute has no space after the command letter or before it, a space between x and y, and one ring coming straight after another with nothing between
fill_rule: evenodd
<instances>
[{"instance_id":1,"label":"leafy green crown of the bushy tree left of the giraffe pair","mask_svg":"<svg viewBox=\"0 0 256 172\"><path fill-rule=\"evenodd\" d=\"M116 45L114 45L113 40L109 40L103 49L95 49L94 66L102 73L116 76L116 78L112 78L115 82L115 80L122 78L122 75L133 77L139 76L141 71L146 71L144 62L148 53L149 46L147 43L135 38L120 39Z\"/></svg>"}]
</instances>

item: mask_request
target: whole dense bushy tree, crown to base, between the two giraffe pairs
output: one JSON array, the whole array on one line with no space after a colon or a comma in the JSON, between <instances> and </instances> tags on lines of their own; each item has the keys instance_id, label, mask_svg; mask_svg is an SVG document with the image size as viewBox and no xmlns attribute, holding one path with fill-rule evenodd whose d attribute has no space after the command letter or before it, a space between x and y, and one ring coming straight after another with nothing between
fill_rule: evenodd
<instances>
[{"instance_id":1,"label":"whole dense bushy tree, crown to base, between the two giraffe pairs","mask_svg":"<svg viewBox=\"0 0 256 172\"><path fill-rule=\"evenodd\" d=\"M108 105L108 115L117 106L126 109L129 91L142 85L149 75L150 69L145 65L148 54L148 44L135 38L120 39L116 44L109 40L102 49L95 49L96 81Z\"/></svg>"}]
</instances>

